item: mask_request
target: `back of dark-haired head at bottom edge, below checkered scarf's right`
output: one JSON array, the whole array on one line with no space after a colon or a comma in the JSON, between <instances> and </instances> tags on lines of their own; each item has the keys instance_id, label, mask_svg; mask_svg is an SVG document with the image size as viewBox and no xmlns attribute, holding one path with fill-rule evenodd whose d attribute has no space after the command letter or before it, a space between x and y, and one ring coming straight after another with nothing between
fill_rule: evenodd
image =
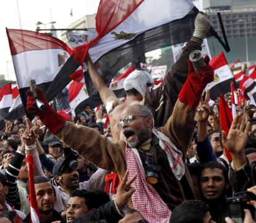
<instances>
[{"instance_id":1,"label":"back of dark-haired head at bottom edge, below checkered scarf's right","mask_svg":"<svg viewBox=\"0 0 256 223\"><path fill-rule=\"evenodd\" d=\"M211 219L209 206L200 200L184 201L171 213L171 223L216 223Z\"/></svg>"}]
</instances>

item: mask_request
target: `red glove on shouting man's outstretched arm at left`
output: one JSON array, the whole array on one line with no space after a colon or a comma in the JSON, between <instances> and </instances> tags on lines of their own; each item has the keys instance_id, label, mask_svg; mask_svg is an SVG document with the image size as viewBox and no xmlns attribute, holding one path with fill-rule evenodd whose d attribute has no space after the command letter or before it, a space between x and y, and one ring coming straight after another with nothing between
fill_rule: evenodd
<instances>
[{"instance_id":1,"label":"red glove on shouting man's outstretched arm at left","mask_svg":"<svg viewBox=\"0 0 256 223\"><path fill-rule=\"evenodd\" d=\"M61 114L49 106L48 101L40 88L36 88L36 95L38 99L40 99L40 101L45 104L45 110L41 111L38 109L38 107L36 107L35 97L33 96L32 91L28 90L27 111L40 117L43 124L45 124L51 133L54 134L58 132L58 130L65 124L68 119L64 116L61 116Z\"/></svg>"}]
</instances>

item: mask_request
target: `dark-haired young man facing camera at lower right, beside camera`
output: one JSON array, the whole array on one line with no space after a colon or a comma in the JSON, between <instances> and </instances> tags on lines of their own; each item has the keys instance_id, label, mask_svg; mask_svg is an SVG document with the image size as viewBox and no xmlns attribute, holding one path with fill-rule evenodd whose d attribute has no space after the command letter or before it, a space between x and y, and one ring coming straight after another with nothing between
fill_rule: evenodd
<instances>
[{"instance_id":1,"label":"dark-haired young man facing camera at lower right, beside camera","mask_svg":"<svg viewBox=\"0 0 256 223\"><path fill-rule=\"evenodd\" d=\"M218 161L206 162L201 166L198 179L202 200L209 205L211 217L217 223L224 222L224 217L228 216L228 169Z\"/></svg>"}]
</instances>

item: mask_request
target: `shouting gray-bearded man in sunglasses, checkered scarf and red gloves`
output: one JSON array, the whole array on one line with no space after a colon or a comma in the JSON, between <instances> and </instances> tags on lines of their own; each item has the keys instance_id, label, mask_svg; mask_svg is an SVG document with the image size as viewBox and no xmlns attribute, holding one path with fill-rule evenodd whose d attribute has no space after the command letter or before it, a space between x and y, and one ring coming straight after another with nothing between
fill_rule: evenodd
<instances>
[{"instance_id":1,"label":"shouting gray-bearded man in sunglasses, checkered scarf and red gloves","mask_svg":"<svg viewBox=\"0 0 256 223\"><path fill-rule=\"evenodd\" d=\"M40 111L32 91L28 91L27 111L39 116L50 132L96 166L117 172L120 179L126 170L132 175L138 174L132 185L135 193L130 205L148 222L168 221L171 209L194 198L184 158L196 124L196 108L204 88L213 81L214 70L208 62L207 57L206 66L197 73L189 61L189 75L179 93L173 115L158 130L146 106L127 106L118 122L125 140L116 143L92 128L67 122L49 106L40 88L36 88L36 93L46 109Z\"/></svg>"}]
</instances>

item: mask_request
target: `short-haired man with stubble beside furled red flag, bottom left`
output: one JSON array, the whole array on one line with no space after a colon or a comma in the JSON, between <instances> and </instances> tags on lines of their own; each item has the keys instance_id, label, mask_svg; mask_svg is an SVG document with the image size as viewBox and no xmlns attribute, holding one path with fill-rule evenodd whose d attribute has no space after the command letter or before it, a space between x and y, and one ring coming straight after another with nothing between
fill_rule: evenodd
<instances>
[{"instance_id":1,"label":"short-haired man with stubble beside furled red flag, bottom left","mask_svg":"<svg viewBox=\"0 0 256 223\"><path fill-rule=\"evenodd\" d=\"M44 223L54 221L63 222L59 212L54 209L56 195L53 185L51 185L51 182L49 182L49 180L46 177L36 176L34 179L34 183L36 203L39 211L39 221ZM30 202L29 181L27 181L26 190L27 199ZM30 213L24 219L24 222L31 222Z\"/></svg>"}]
</instances>

